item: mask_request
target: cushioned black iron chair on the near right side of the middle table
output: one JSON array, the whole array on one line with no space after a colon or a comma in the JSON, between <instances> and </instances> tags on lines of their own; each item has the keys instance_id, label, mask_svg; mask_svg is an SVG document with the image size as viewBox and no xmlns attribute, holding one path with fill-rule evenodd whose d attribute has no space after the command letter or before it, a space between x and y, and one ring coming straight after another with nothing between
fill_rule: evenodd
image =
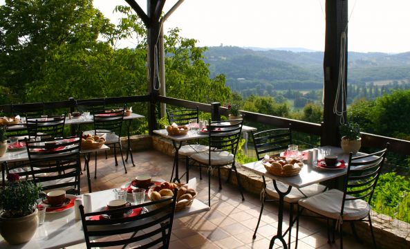
<instances>
[{"instance_id":1,"label":"cushioned black iron chair on the near right side of the middle table","mask_svg":"<svg viewBox=\"0 0 410 249\"><path fill-rule=\"evenodd\" d=\"M234 124L226 121L209 120L208 150L191 156L202 165L208 167L208 205L211 206L211 175L214 168L218 169L219 190L221 185L221 167L231 165L227 181L229 181L232 171L236 174L239 192L242 201L245 200L242 192L241 180L235 166L235 156L241 138L243 120L230 120Z\"/></svg>"}]
</instances>

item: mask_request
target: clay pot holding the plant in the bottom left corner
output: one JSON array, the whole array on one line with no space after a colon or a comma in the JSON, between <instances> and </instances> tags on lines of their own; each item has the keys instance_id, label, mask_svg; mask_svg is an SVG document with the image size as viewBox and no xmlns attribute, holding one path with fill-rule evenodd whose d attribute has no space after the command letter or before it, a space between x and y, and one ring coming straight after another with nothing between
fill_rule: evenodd
<instances>
[{"instance_id":1,"label":"clay pot holding the plant in the bottom left corner","mask_svg":"<svg viewBox=\"0 0 410 249\"><path fill-rule=\"evenodd\" d=\"M39 224L37 208L32 214L19 218L0 216L0 234L11 245L26 243L34 236Z\"/></svg>"}]
</instances>

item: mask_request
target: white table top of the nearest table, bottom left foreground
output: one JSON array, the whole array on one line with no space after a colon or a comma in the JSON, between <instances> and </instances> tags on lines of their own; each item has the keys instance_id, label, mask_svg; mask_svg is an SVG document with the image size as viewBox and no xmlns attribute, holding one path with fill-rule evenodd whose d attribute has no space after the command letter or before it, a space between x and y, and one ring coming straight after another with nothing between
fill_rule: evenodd
<instances>
[{"instance_id":1,"label":"white table top of the nearest table, bottom left foreground","mask_svg":"<svg viewBox=\"0 0 410 249\"><path fill-rule=\"evenodd\" d=\"M114 198L113 190L93 192L91 203L93 212L105 207ZM174 218L198 214L208 211L209 207L198 199L194 199L190 208L176 212ZM58 213L46 213L46 220L40 225L34 237L27 243L11 246L0 236L0 248L49 249L65 248L84 242L84 232L81 220L75 220L74 208Z\"/></svg>"}]
</instances>

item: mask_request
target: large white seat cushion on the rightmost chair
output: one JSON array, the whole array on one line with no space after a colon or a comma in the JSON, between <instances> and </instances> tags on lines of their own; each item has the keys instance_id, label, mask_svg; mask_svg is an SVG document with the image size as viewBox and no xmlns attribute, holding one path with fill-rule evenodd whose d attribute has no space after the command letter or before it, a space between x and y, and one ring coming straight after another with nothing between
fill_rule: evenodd
<instances>
[{"instance_id":1,"label":"large white seat cushion on the rightmost chair","mask_svg":"<svg viewBox=\"0 0 410 249\"><path fill-rule=\"evenodd\" d=\"M352 197L346 195L346 197ZM331 219L339 219L342 209L343 192L340 190L329 190L315 196L301 199L299 205L317 214L321 214ZM343 220L357 220L367 216L370 212L370 205L361 199L345 201L343 210Z\"/></svg>"}]
</instances>

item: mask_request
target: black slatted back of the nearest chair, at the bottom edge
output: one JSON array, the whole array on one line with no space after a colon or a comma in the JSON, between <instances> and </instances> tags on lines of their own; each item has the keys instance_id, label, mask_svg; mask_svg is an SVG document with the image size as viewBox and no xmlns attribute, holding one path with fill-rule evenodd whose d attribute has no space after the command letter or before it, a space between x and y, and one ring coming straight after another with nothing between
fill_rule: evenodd
<instances>
[{"instance_id":1,"label":"black slatted back of the nearest chair, at the bottom edge","mask_svg":"<svg viewBox=\"0 0 410 249\"><path fill-rule=\"evenodd\" d=\"M82 226L87 248L105 248L110 246L123 246L122 248L168 248L171 238L172 223L176 205L174 196L159 201L133 205L115 210L84 213L80 205ZM159 208L158 208L159 207ZM91 216L110 217L120 212L131 212L136 208L150 210L137 216L118 219L92 220Z\"/></svg>"}]
</instances>

